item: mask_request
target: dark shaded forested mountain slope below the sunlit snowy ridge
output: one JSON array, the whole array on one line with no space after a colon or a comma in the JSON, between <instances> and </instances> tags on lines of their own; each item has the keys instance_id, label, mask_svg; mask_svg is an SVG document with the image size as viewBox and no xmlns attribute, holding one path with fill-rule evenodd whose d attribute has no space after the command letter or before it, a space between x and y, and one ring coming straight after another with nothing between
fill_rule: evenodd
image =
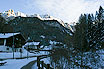
<instances>
[{"instance_id":1,"label":"dark shaded forested mountain slope below the sunlit snowy ridge","mask_svg":"<svg viewBox=\"0 0 104 69\"><path fill-rule=\"evenodd\" d=\"M15 32L21 32L27 39L48 44L50 40L65 43L70 30L64 28L57 20L40 20L37 17L16 17L8 22Z\"/></svg>"}]
</instances>

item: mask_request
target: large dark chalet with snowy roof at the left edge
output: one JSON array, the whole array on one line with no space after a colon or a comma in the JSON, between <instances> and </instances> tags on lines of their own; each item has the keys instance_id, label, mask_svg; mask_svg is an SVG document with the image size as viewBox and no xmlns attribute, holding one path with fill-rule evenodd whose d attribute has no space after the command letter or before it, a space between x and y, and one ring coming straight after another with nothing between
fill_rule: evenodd
<instances>
[{"instance_id":1,"label":"large dark chalet with snowy roof at the left edge","mask_svg":"<svg viewBox=\"0 0 104 69\"><path fill-rule=\"evenodd\" d=\"M20 33L0 33L0 51L17 52L24 44L25 38Z\"/></svg>"}]
</instances>

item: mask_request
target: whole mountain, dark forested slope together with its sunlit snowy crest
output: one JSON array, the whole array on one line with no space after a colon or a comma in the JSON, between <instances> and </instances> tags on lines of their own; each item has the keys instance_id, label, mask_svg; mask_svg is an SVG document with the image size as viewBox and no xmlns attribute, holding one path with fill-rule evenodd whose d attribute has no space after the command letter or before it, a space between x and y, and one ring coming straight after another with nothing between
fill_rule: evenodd
<instances>
[{"instance_id":1,"label":"whole mountain, dark forested slope together with its sunlit snowy crest","mask_svg":"<svg viewBox=\"0 0 104 69\"><path fill-rule=\"evenodd\" d=\"M66 27L62 20L48 14L26 15L10 9L1 13L1 17L5 22L0 32L20 32L26 39L30 37L42 45L49 45L50 41L66 44L66 36L73 34L70 25Z\"/></svg>"}]
</instances>

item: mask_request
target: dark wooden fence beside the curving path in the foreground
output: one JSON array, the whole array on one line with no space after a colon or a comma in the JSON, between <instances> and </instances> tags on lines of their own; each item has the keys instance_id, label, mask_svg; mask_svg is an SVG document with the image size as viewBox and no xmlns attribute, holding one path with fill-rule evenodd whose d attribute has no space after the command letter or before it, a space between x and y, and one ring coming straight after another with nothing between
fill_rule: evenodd
<instances>
[{"instance_id":1,"label":"dark wooden fence beside the curving path in the foreground","mask_svg":"<svg viewBox=\"0 0 104 69\"><path fill-rule=\"evenodd\" d=\"M44 69L44 67L46 69L53 69L52 67L50 67L50 64L45 64L44 61L40 61L40 59L45 58L45 57L40 57L40 56L37 57L37 66L38 66L38 69Z\"/></svg>"}]
</instances>

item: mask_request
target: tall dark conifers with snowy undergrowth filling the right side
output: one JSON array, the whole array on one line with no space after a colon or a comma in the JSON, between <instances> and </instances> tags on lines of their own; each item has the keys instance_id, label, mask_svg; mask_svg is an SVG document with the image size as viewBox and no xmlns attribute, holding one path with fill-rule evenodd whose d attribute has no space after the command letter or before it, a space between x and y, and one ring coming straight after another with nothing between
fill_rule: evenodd
<instances>
[{"instance_id":1,"label":"tall dark conifers with snowy undergrowth filling the right side","mask_svg":"<svg viewBox=\"0 0 104 69\"><path fill-rule=\"evenodd\" d=\"M95 15L81 14L75 29L73 36L66 36L68 48L61 50L61 58L58 58L61 62L56 61L56 64L62 69L104 68L104 9L100 6Z\"/></svg>"}]
</instances>

